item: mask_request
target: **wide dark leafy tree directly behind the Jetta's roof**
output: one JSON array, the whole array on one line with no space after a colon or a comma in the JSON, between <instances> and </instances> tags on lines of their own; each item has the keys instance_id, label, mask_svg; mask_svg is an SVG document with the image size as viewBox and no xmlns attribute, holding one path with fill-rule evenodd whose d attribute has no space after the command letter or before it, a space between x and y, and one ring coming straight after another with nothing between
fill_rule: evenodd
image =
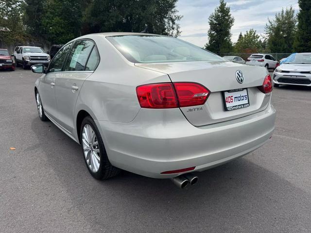
<instances>
[{"instance_id":1,"label":"wide dark leafy tree directly behind the Jetta's roof","mask_svg":"<svg viewBox=\"0 0 311 233\"><path fill-rule=\"evenodd\" d=\"M180 35L182 16L177 0L92 0L86 8L83 33L141 32Z\"/></svg>"}]
</instances>

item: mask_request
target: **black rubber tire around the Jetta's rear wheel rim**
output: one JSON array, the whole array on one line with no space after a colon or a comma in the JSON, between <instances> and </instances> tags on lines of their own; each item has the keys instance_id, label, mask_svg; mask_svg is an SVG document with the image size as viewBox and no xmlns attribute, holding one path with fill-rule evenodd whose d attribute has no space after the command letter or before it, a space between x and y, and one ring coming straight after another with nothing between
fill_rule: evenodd
<instances>
[{"instance_id":1,"label":"black rubber tire around the Jetta's rear wheel rim","mask_svg":"<svg viewBox=\"0 0 311 233\"><path fill-rule=\"evenodd\" d=\"M92 130L94 131L96 138L97 138L97 142L98 142L98 148L100 150L100 165L99 165L99 169L97 172L93 172L90 167L88 166L87 162L86 162L86 157L84 155L84 150L83 150L83 142L82 142L82 133L83 133L83 128L84 126L88 124L92 127ZM120 169L112 166L108 156L107 156L107 152L106 149L104 147L104 142L102 139L101 134L99 133L99 130L94 122L94 120L92 119L92 117L90 116L86 116L81 124L80 127L80 142L81 142L81 149L82 149L82 154L83 154L83 158L84 161L86 163L86 167L89 171L89 173L97 180L106 180L109 179L111 177L114 177L116 175L118 175L120 173Z\"/></svg>"}]
</instances>

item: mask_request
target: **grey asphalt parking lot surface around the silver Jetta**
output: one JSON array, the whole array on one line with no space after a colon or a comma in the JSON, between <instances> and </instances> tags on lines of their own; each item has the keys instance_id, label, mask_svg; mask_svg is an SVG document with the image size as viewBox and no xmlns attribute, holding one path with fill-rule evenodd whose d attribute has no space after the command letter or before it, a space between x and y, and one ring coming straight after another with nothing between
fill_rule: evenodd
<instances>
[{"instance_id":1,"label":"grey asphalt parking lot surface around the silver Jetta","mask_svg":"<svg viewBox=\"0 0 311 233\"><path fill-rule=\"evenodd\" d=\"M37 77L0 71L1 233L311 231L311 88L275 88L270 142L180 190L125 171L93 179L80 146L39 120Z\"/></svg>"}]
</instances>

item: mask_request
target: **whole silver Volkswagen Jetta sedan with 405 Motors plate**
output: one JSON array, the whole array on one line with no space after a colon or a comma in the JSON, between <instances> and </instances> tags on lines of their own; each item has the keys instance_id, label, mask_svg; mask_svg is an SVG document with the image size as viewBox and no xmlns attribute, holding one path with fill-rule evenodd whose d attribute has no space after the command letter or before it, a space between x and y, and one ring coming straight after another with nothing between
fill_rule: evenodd
<instances>
[{"instance_id":1,"label":"whole silver Volkswagen Jetta sedan with 405 Motors plate","mask_svg":"<svg viewBox=\"0 0 311 233\"><path fill-rule=\"evenodd\" d=\"M41 120L81 144L96 179L120 169L174 178L239 158L271 137L272 81L183 40L98 33L67 43L35 82ZM184 175L185 174L185 175Z\"/></svg>"}]
</instances>

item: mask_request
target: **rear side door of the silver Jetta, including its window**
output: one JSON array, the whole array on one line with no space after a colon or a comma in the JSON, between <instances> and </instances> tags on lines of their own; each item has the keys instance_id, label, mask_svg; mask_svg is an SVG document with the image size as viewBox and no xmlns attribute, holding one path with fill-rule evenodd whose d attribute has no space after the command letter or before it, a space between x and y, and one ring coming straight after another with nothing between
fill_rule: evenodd
<instances>
[{"instance_id":1,"label":"rear side door of the silver Jetta, including its window","mask_svg":"<svg viewBox=\"0 0 311 233\"><path fill-rule=\"evenodd\" d=\"M78 40L68 56L64 72L56 79L55 96L59 124L69 133L74 126L74 109L85 80L93 73L92 64L99 63L99 53L91 40ZM97 67L96 65L96 67Z\"/></svg>"}]
</instances>

